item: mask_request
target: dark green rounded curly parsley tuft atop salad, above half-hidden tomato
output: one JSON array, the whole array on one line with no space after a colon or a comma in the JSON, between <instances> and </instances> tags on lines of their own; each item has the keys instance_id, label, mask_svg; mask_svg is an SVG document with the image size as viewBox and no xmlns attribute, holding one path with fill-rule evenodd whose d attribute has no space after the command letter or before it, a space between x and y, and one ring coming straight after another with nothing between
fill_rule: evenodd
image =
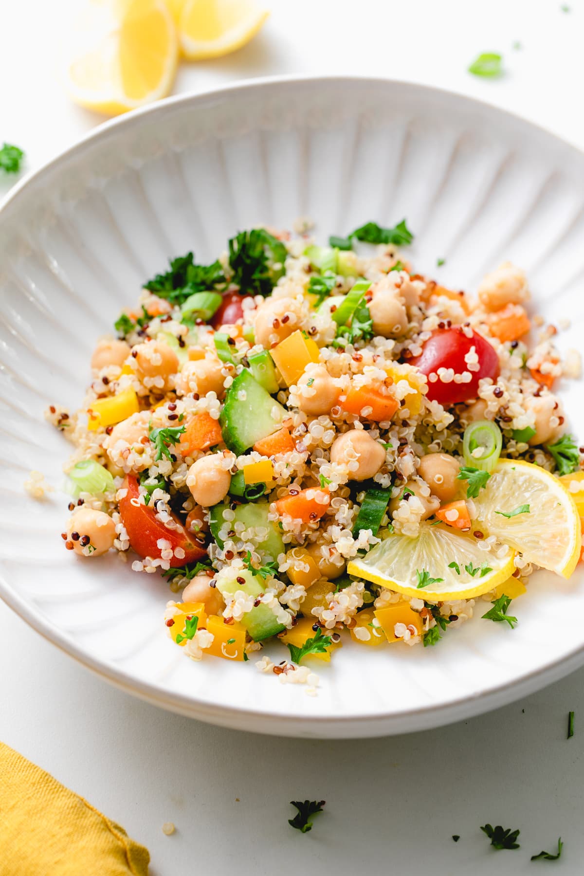
<instances>
[{"instance_id":1,"label":"dark green rounded curly parsley tuft atop salad, above half-hidden tomato","mask_svg":"<svg viewBox=\"0 0 584 876\"><path fill-rule=\"evenodd\" d=\"M269 231L263 228L241 231L229 240L233 282L242 292L269 295L278 279L284 276L286 255L285 244Z\"/></svg>"}]
</instances>

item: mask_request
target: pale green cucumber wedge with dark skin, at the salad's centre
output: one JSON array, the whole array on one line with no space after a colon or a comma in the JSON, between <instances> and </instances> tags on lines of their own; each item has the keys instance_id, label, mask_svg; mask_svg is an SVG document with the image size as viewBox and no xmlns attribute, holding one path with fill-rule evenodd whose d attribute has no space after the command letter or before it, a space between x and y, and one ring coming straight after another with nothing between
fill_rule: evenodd
<instances>
[{"instance_id":1,"label":"pale green cucumber wedge with dark skin, at the salad's centre","mask_svg":"<svg viewBox=\"0 0 584 876\"><path fill-rule=\"evenodd\" d=\"M285 409L269 392L242 371L229 386L220 417L223 441L237 456L280 427Z\"/></svg>"}]
</instances>

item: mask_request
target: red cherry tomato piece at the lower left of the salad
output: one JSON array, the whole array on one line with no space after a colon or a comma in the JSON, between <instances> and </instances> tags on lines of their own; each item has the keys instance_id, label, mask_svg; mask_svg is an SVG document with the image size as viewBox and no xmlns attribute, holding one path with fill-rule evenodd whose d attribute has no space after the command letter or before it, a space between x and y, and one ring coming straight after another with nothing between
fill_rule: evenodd
<instances>
[{"instance_id":1,"label":"red cherry tomato piece at the lower left of the salad","mask_svg":"<svg viewBox=\"0 0 584 876\"><path fill-rule=\"evenodd\" d=\"M158 539L169 541L172 550L183 548L185 551L183 557L172 557L171 566L184 566L186 562L196 562L207 554L205 548L191 541L191 536L186 533L177 517L172 515L177 528L167 529L156 518L154 509L150 505L132 503L132 499L137 500L140 495L136 477L128 475L123 486L128 492L123 499L120 499L120 516L130 539L130 547L138 556L151 556L152 559L159 557Z\"/></svg>"}]
</instances>

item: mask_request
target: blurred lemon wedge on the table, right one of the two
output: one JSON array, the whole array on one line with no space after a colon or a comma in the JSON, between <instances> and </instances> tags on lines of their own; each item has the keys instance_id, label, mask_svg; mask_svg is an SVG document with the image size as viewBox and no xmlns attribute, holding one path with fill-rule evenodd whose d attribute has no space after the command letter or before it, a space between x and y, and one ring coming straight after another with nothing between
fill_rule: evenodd
<instances>
[{"instance_id":1,"label":"blurred lemon wedge on the table, right one of the two","mask_svg":"<svg viewBox=\"0 0 584 876\"><path fill-rule=\"evenodd\" d=\"M177 0L171 0L176 9ZM180 48L201 60L235 52L255 37L270 12L253 0L185 0L179 15Z\"/></svg>"}]
</instances>

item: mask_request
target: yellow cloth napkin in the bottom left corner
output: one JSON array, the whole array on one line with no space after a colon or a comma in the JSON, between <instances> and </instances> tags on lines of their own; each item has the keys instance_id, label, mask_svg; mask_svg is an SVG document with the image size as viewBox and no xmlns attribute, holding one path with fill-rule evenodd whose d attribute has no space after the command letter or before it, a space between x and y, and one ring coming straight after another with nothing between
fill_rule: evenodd
<instances>
[{"instance_id":1,"label":"yellow cloth napkin in the bottom left corner","mask_svg":"<svg viewBox=\"0 0 584 876\"><path fill-rule=\"evenodd\" d=\"M125 830L0 742L0 876L147 876Z\"/></svg>"}]
</instances>

